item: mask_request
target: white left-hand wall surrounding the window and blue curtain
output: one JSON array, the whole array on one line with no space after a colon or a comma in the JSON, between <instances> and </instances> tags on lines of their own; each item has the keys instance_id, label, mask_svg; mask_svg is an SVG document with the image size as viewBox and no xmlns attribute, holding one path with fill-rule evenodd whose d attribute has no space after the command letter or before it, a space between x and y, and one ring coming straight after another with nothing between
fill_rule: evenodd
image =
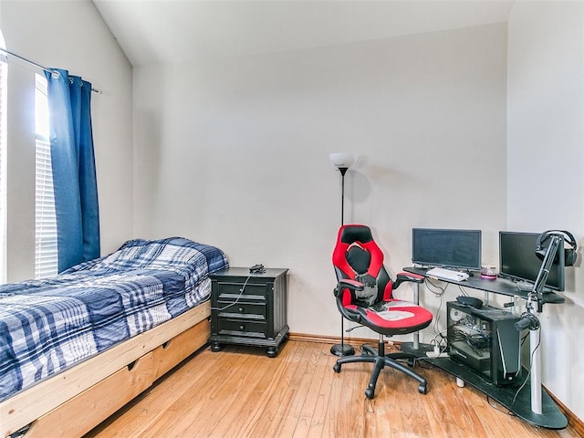
<instances>
[{"instance_id":1,"label":"white left-hand wall surrounding the window and blue curtain","mask_svg":"<svg viewBox=\"0 0 584 438\"><path fill-rule=\"evenodd\" d=\"M132 235L131 66L89 0L0 2L6 48L45 67L68 69L92 94L101 251ZM34 75L10 57L8 71L8 281L34 275Z\"/></svg>"}]
</instances>

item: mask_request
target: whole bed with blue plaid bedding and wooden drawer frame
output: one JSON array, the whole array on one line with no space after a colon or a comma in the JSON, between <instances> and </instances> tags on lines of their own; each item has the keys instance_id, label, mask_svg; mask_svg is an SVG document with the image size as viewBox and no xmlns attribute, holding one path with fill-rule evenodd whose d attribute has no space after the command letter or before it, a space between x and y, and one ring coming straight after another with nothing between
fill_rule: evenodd
<instances>
[{"instance_id":1,"label":"whole bed with blue plaid bedding and wooden drawer frame","mask_svg":"<svg viewBox=\"0 0 584 438\"><path fill-rule=\"evenodd\" d=\"M130 240L58 276L0 286L0 436L81 436L209 338L224 253Z\"/></svg>"}]
</instances>

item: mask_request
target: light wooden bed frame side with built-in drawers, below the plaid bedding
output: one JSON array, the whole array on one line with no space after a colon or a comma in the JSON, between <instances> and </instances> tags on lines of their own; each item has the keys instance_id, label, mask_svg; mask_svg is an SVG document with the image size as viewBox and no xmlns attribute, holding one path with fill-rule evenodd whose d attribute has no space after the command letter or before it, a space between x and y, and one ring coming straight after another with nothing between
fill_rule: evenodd
<instances>
[{"instance_id":1,"label":"light wooden bed frame side with built-in drawers, below the plaid bedding","mask_svg":"<svg viewBox=\"0 0 584 438\"><path fill-rule=\"evenodd\" d=\"M0 403L0 437L79 437L209 339L210 302L130 338Z\"/></svg>"}]
</instances>

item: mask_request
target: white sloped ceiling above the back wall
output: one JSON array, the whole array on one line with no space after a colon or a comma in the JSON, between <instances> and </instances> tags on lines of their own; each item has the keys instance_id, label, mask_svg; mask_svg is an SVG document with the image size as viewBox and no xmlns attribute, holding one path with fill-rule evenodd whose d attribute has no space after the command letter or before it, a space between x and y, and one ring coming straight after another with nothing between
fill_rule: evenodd
<instances>
[{"instance_id":1,"label":"white sloped ceiling above the back wall","mask_svg":"<svg viewBox=\"0 0 584 438\"><path fill-rule=\"evenodd\" d=\"M193 62L505 22L495 0L93 0L132 66Z\"/></svg>"}]
</instances>

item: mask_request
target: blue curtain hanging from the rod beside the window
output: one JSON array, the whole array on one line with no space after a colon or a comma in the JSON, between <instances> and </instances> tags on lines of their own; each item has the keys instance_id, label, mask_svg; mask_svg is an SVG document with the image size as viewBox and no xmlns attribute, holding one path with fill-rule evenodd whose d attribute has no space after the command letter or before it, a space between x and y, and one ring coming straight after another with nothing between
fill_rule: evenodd
<instances>
[{"instance_id":1,"label":"blue curtain hanging from the rod beside the window","mask_svg":"<svg viewBox=\"0 0 584 438\"><path fill-rule=\"evenodd\" d=\"M91 84L62 69L46 76L61 272L100 254Z\"/></svg>"}]
</instances>

